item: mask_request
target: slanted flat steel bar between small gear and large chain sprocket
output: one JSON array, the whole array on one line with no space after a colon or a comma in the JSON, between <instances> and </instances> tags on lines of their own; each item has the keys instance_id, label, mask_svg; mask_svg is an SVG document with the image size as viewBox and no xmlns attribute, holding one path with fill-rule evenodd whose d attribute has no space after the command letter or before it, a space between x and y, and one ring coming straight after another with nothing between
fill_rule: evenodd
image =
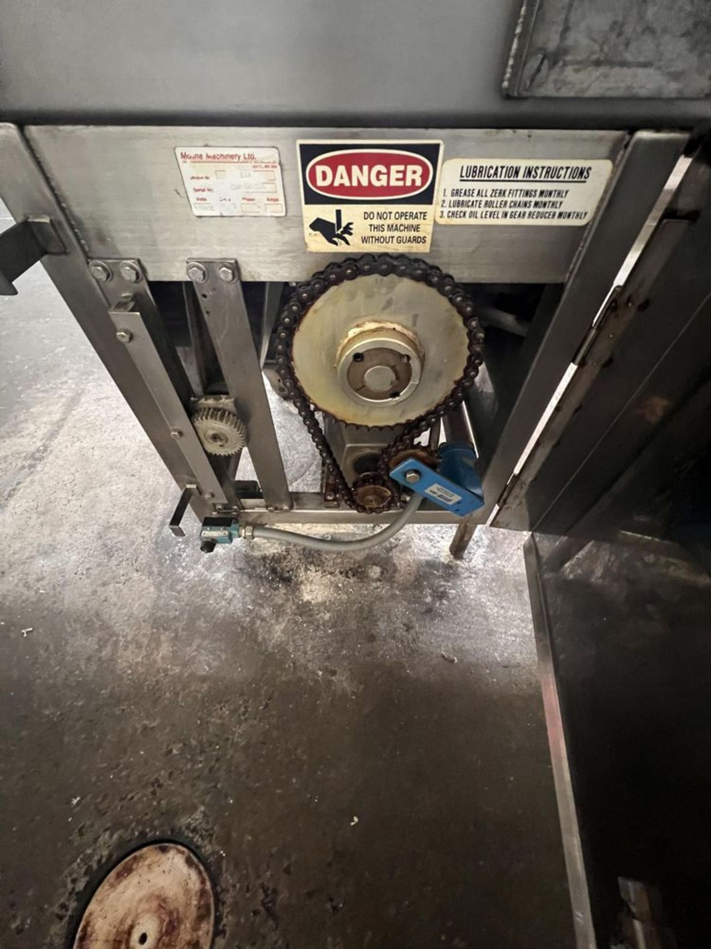
<instances>
[{"instance_id":1,"label":"slanted flat steel bar between small gear and large chain sprocket","mask_svg":"<svg viewBox=\"0 0 711 949\"><path fill-rule=\"evenodd\" d=\"M246 425L246 445L264 504L289 509L291 495L237 264L234 260L188 261L187 268L229 395Z\"/></svg>"}]
</instances>

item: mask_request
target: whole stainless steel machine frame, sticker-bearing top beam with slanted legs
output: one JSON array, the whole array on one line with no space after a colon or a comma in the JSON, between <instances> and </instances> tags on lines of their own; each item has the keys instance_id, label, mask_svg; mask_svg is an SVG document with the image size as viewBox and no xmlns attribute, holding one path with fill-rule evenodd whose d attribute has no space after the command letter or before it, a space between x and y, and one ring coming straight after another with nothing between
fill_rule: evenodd
<instances>
[{"instance_id":1,"label":"whole stainless steel machine frame, sticker-bearing top beam with slanted legs","mask_svg":"<svg viewBox=\"0 0 711 949\"><path fill-rule=\"evenodd\" d=\"M173 167L173 143L190 144L208 138L218 143L235 143L236 134L254 144L282 143L291 221L287 217L257 220L255 224L254 219L246 218L194 218L185 196L179 188L173 188L173 178L176 175L179 178ZM615 273L688 139L682 132L640 132L623 147L628 139L619 132L264 128L34 127L27 135L31 147L18 128L0 125L0 195L10 212L18 221L36 215L51 220L66 252L44 257L46 270L179 487L196 486L191 494L191 506L197 515L205 516L215 507L236 509L242 504L246 509L244 516L261 523L278 520L376 523L379 520L340 510L333 502L323 508L314 497L288 493L260 373L268 337L266 324L273 320L277 306L274 286L269 285L262 316L263 338L257 341L256 347L253 327L246 317L240 282L240 276L244 278L245 274L239 274L236 261L243 270L246 267L250 276L275 281L285 275L290 278L306 275L325 262L321 255L309 255L301 247L300 210L293 204L295 140L319 136L342 139L427 135L447 140L450 151L446 158L447 154L449 157L456 154L459 147L484 149L482 154L492 157L505 147L508 154L514 154L512 149L520 149L521 156L550 157L556 148L564 148L565 154L571 156L616 158L611 184L593 225L588 228L490 228L485 240L479 228L435 228L433 252L428 259L439 260L460 279L463 275L457 272L457 262L465 270L464 277L470 279L498 276L513 282L559 282L574 257L565 285L561 288L559 283L554 283L544 294L540 312L521 343L519 358L512 364L511 385L505 397L499 400L498 412L488 420L485 432L475 432L477 438L483 435L485 446L494 446L491 451L484 451L482 458L487 504L461 525L455 544L459 554L465 549L474 526L486 519L500 498L540 414L589 331ZM32 149L37 151L41 165ZM623 150L620 152L620 149ZM132 180L136 179L140 177L142 158L145 159L143 183L136 194L126 197L123 192L126 179L121 177L123 166ZM254 230L257 225L273 232L270 244L264 244L263 236ZM297 226L300 228L298 247L294 243ZM283 235L279 232L281 227ZM111 252L106 253L109 249ZM214 250L228 253L210 252ZM504 251L508 252L508 258L502 264ZM148 262L144 253L148 255ZM101 279L95 260L98 256L108 267L108 280ZM243 257L246 259L244 267ZM92 260L93 271L98 276L92 275L90 270ZM174 358L174 347L170 341L160 338L149 279L179 279L190 287L187 265L195 260L200 261L207 274L204 284L193 285L197 290L198 308L209 328L229 395L246 420L248 448L264 500L238 497L232 486L234 473L228 471L224 460L207 456L199 442L187 433L191 391L185 373ZM226 262L234 268L234 281L222 279L217 272L217 265ZM137 271L136 276L132 267ZM118 342L116 332L121 327L116 321L131 323L133 328L123 328L134 332L138 345L133 349L132 344ZM136 353L135 358L132 352ZM173 395L168 391L168 381L172 383ZM176 437L176 431L182 435ZM270 508L279 510L271 512ZM287 511L289 508L293 510ZM447 523L449 515L424 511L416 520Z\"/></svg>"}]
</instances>

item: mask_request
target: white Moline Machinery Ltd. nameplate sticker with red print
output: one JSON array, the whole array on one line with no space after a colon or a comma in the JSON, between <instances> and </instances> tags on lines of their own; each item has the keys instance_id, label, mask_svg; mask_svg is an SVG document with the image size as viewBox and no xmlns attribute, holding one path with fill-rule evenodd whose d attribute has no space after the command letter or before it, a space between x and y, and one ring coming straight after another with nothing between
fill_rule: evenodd
<instances>
[{"instance_id":1,"label":"white Moline Machinery Ltd. nameplate sticker with red print","mask_svg":"<svg viewBox=\"0 0 711 949\"><path fill-rule=\"evenodd\" d=\"M276 148L178 147L175 156L198 217L283 217L282 166Z\"/></svg>"}]
</instances>

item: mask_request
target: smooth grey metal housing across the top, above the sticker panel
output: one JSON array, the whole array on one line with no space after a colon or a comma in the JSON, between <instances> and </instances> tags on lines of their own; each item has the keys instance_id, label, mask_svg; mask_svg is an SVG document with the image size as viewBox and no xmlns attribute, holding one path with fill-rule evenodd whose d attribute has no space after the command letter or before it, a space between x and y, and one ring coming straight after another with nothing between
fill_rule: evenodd
<instances>
[{"instance_id":1,"label":"smooth grey metal housing across the top, above the sticker panel","mask_svg":"<svg viewBox=\"0 0 711 949\"><path fill-rule=\"evenodd\" d=\"M655 50L668 37L664 5L646 0L528 2L523 14L520 0L5 0L0 119L691 128L711 118L698 81L708 75L699 42L708 30L704 3L669 5L675 22L694 24L674 37L673 55L662 63L673 77L667 73L665 84L657 69L646 81L637 70L643 78L630 95L615 75L629 75L620 62L639 55L640 24L651 65L662 60ZM523 75L511 91L527 98L501 91L515 40L525 61L517 63L516 52L511 58ZM576 76L587 71L609 81L590 83L587 92L578 83L578 98L559 98L560 84L542 82L546 69L539 68L538 57L550 61L551 50L574 60ZM608 98L589 98L596 89ZM660 90L674 98L649 98ZM558 98L536 98L546 95Z\"/></svg>"}]
</instances>

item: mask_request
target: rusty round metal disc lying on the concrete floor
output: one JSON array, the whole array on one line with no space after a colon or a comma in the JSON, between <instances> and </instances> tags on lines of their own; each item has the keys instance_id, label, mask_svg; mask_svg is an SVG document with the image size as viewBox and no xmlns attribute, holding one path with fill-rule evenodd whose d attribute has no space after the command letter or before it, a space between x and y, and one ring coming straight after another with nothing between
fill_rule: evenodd
<instances>
[{"instance_id":1,"label":"rusty round metal disc lying on the concrete floor","mask_svg":"<svg viewBox=\"0 0 711 949\"><path fill-rule=\"evenodd\" d=\"M152 844L102 881L74 949L210 949L213 927L205 867L187 847Z\"/></svg>"}]
</instances>

